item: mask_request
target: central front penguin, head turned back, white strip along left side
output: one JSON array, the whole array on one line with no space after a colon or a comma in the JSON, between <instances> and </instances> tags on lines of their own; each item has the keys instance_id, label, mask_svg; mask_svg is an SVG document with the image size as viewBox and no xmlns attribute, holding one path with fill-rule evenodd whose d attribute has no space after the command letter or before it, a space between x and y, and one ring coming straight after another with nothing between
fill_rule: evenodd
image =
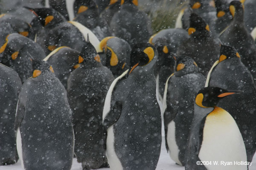
<instances>
[{"instance_id":1,"label":"central front penguin, head turned back, white strip along left side","mask_svg":"<svg viewBox=\"0 0 256 170\"><path fill-rule=\"evenodd\" d=\"M160 156L161 113L155 95L157 49L137 44L132 67L111 84L103 110L106 156L112 170L155 170Z\"/></svg>"}]
</instances>

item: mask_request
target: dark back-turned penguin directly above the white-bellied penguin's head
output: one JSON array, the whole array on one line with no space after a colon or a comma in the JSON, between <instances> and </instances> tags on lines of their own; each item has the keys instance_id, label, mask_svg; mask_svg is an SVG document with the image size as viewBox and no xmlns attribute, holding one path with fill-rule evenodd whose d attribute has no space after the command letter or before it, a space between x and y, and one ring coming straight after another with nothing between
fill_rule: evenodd
<instances>
[{"instance_id":1,"label":"dark back-turned penguin directly above the white-bellied penguin's head","mask_svg":"<svg viewBox=\"0 0 256 170\"><path fill-rule=\"evenodd\" d=\"M209 26L205 21L192 13L190 15L190 38L184 41L177 50L177 56L186 55L195 60L200 68L199 72L207 75L212 64L218 59L219 42L210 35Z\"/></svg>"}]
</instances>

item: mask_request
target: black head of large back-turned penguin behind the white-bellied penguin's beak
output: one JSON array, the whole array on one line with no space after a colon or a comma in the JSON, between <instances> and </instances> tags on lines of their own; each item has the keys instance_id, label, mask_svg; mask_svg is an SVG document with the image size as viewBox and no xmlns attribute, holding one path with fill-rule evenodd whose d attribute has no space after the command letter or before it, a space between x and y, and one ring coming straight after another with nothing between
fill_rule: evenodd
<instances>
[{"instance_id":1,"label":"black head of large back-turned penguin behind the white-bellied penguin's beak","mask_svg":"<svg viewBox=\"0 0 256 170\"><path fill-rule=\"evenodd\" d=\"M219 62L222 62L225 59L230 59L230 58L241 58L241 57L234 47L221 45Z\"/></svg>"}]
</instances>

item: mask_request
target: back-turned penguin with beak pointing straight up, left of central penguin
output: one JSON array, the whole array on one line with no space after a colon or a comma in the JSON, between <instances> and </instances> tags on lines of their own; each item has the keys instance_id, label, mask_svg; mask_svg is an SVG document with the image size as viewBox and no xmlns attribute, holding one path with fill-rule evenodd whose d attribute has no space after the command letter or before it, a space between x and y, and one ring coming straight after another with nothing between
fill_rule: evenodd
<instances>
[{"instance_id":1,"label":"back-turned penguin with beak pointing straight up, left of central penguin","mask_svg":"<svg viewBox=\"0 0 256 170\"><path fill-rule=\"evenodd\" d=\"M89 39L77 61L80 67L70 74L67 85L75 133L75 154L83 170L107 167L102 139L102 111L114 77L108 68L102 66L99 54Z\"/></svg>"}]
</instances>

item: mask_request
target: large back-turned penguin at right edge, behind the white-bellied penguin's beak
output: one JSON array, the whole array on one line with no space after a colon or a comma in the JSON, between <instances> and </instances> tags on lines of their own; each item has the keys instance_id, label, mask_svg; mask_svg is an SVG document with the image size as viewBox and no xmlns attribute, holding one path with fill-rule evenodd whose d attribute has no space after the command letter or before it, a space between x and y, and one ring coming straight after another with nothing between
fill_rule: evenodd
<instances>
[{"instance_id":1,"label":"large back-turned penguin at right edge, behind the white-bellied penguin's beak","mask_svg":"<svg viewBox=\"0 0 256 170\"><path fill-rule=\"evenodd\" d=\"M220 57L216 64L208 74L206 86L243 91L238 96L224 98L219 106L236 120L244 139L247 161L251 162L256 151L256 88L253 77L241 62L239 53L231 46L221 45Z\"/></svg>"}]
</instances>

